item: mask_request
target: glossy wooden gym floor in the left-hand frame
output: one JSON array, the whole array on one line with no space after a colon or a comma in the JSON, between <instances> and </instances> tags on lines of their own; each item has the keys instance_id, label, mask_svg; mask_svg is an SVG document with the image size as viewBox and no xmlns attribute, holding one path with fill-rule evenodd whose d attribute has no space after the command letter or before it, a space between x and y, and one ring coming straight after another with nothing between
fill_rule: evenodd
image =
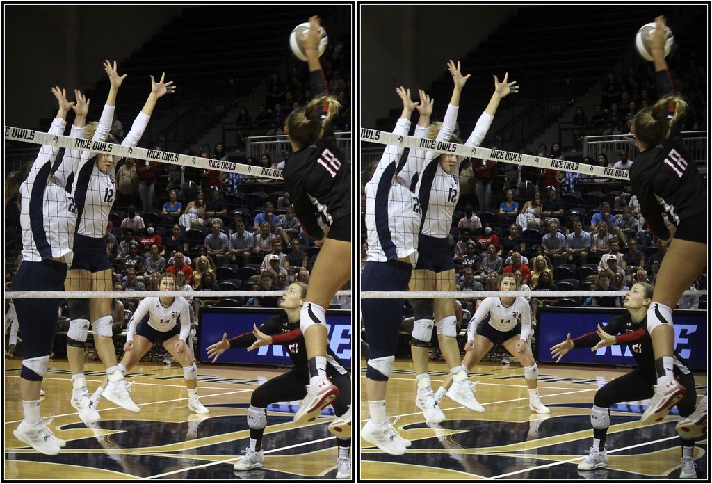
<instances>
[{"instance_id":1,"label":"glossy wooden gym floor in the left-hand frame","mask_svg":"<svg viewBox=\"0 0 712 484\"><path fill-rule=\"evenodd\" d=\"M337 448L327 430L333 411L328 407L314 423L295 426L292 417L299 402L268 407L264 468L246 472L232 468L248 446L246 412L252 391L285 369L199 364L199 396L210 410L209 415L199 416L187 408L183 370L178 364L164 367L160 362L142 362L127 375L127 381L134 382L131 396L140 413L103 399L101 421L88 428L69 403L66 359L53 359L43 383L46 396L41 409L46 421L54 417L48 426L68 445L57 456L45 456L12 434L22 419L20 367L20 357L5 359L4 479L335 478ZM102 377L100 362L86 364L90 392Z\"/></svg>"}]
</instances>

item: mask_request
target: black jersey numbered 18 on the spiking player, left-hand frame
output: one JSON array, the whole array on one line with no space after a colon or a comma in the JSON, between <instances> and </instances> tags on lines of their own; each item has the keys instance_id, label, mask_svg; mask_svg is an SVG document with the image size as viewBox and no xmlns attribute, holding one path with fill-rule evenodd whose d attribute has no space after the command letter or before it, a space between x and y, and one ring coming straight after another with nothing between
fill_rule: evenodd
<instances>
[{"instance_id":1,"label":"black jersey numbered 18 on the spiking player, left-hand frame","mask_svg":"<svg viewBox=\"0 0 712 484\"><path fill-rule=\"evenodd\" d=\"M310 78L313 93L326 92L321 70L311 71ZM290 154L283 175L295 214L309 236L323 238L319 219L330 226L351 216L351 163L338 147L330 123L315 144Z\"/></svg>"}]
</instances>

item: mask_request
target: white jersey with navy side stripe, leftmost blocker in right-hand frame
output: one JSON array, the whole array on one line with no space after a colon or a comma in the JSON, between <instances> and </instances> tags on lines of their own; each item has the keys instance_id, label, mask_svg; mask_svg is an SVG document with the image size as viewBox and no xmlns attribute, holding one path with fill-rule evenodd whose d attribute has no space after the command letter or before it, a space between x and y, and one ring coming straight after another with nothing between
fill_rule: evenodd
<instances>
[{"instance_id":1,"label":"white jersey with navy side stripe, leftmost blocker in right-hand frame","mask_svg":"<svg viewBox=\"0 0 712 484\"><path fill-rule=\"evenodd\" d=\"M410 121L401 118L393 133L407 135L409 128ZM413 264L417 262L421 212L418 197L396 174L403 151L403 147L387 145L366 183L368 261L408 258Z\"/></svg>"}]
</instances>

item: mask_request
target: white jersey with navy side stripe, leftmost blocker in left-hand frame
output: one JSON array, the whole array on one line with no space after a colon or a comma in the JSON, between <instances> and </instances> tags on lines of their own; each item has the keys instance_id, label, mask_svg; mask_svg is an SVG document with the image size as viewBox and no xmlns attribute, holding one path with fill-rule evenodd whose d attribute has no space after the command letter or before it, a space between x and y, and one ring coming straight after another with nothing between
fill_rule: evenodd
<instances>
[{"instance_id":1,"label":"white jersey with navy side stripe, leftmost blocker in left-hand frame","mask_svg":"<svg viewBox=\"0 0 712 484\"><path fill-rule=\"evenodd\" d=\"M62 135L65 127L66 121L57 118L48 133ZM23 261L72 261L76 206L64 187L49 179L58 152L58 147L43 144L20 185Z\"/></svg>"}]
</instances>

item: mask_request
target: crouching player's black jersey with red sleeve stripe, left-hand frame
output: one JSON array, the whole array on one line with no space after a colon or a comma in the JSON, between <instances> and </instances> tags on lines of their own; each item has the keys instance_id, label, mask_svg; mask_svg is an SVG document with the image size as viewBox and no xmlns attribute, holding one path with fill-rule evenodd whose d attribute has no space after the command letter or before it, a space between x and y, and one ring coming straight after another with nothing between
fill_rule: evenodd
<instances>
[{"instance_id":1,"label":"crouching player's black jersey with red sleeve stripe, left-hand frame","mask_svg":"<svg viewBox=\"0 0 712 484\"><path fill-rule=\"evenodd\" d=\"M299 330L299 322L290 323L286 313L274 315L268 320L262 323L258 330L263 332L265 335L283 335L284 333L291 332L292 337L288 341L278 343L281 344L284 349L287 350L289 357L294 363L294 368L303 374L306 379L309 379L309 365L307 357L307 347L304 341L304 335ZM245 333L238 337L231 338L230 347L231 348L241 348L249 347L253 342L256 342L257 338L255 335L250 333ZM326 374L333 377L336 374L347 374L339 357L334 354L330 347L326 348Z\"/></svg>"}]
</instances>

